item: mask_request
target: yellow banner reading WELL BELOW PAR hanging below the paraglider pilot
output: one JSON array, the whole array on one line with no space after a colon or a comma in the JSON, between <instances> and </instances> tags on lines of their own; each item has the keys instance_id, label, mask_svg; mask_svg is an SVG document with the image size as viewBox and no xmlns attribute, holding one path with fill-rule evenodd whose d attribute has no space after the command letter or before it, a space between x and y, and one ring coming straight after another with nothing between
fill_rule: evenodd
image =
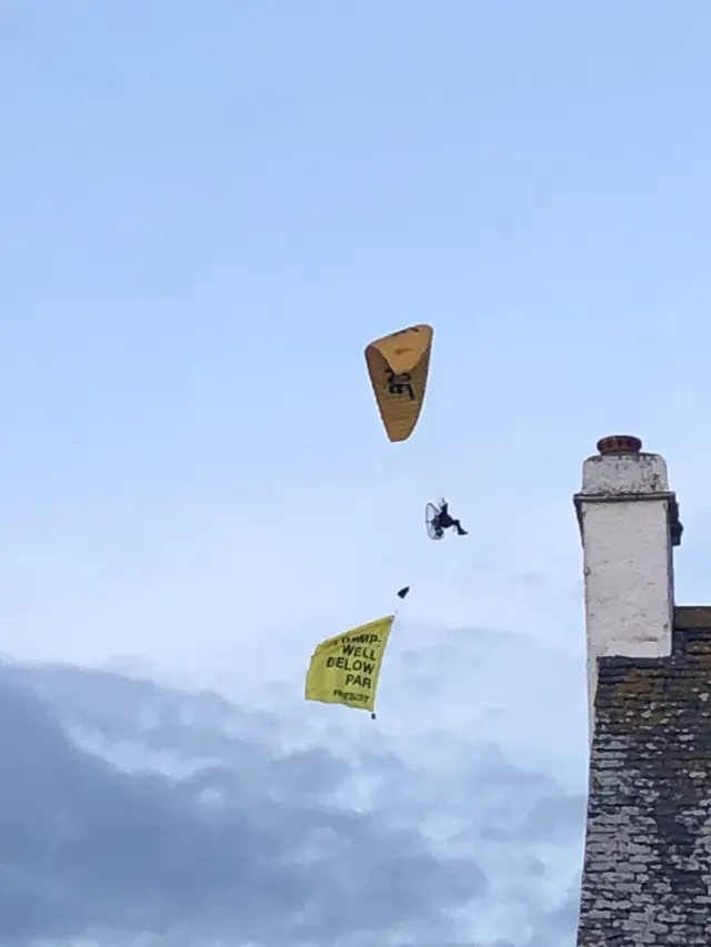
<instances>
[{"instance_id":1,"label":"yellow banner reading WELL BELOW PAR hanging below the paraglider pilot","mask_svg":"<svg viewBox=\"0 0 711 947\"><path fill-rule=\"evenodd\" d=\"M393 621L394 615L387 615L321 642L307 673L307 701L373 711Z\"/></svg>"}]
</instances>

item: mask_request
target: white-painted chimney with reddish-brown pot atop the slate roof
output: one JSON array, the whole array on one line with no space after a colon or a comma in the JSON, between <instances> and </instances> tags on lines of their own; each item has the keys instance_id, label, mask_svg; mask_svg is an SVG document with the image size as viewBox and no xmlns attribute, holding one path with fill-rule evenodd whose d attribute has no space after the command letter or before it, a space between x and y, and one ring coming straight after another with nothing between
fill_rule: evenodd
<instances>
[{"instance_id":1,"label":"white-painted chimney with reddish-brown pot atop the slate roof","mask_svg":"<svg viewBox=\"0 0 711 947\"><path fill-rule=\"evenodd\" d=\"M583 545L590 741L598 657L671 654L672 547L681 541L667 463L642 453L639 437L598 442L582 467L574 503Z\"/></svg>"}]
</instances>

